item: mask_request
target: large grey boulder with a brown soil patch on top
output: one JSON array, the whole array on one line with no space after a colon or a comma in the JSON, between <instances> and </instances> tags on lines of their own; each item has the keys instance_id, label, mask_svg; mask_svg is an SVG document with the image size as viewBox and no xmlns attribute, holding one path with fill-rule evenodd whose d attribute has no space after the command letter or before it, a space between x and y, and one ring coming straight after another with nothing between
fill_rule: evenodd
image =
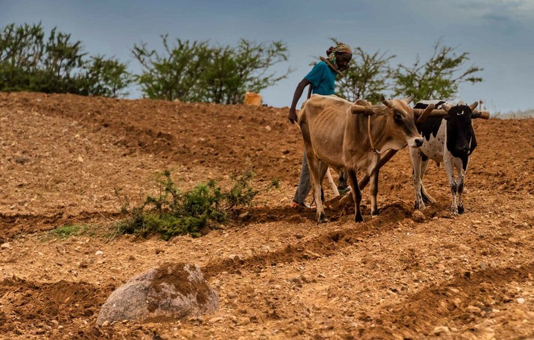
<instances>
[{"instance_id":1,"label":"large grey boulder with a brown soil patch on top","mask_svg":"<svg viewBox=\"0 0 534 340\"><path fill-rule=\"evenodd\" d=\"M102 305L96 323L175 321L218 309L218 297L193 264L162 264L130 279ZM107 322L106 322L107 321Z\"/></svg>"}]
</instances>

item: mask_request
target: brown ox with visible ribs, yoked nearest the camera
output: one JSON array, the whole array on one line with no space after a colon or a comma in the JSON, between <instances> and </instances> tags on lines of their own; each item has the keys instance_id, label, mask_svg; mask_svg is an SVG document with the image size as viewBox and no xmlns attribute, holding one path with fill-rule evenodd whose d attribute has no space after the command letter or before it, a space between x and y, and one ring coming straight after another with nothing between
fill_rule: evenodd
<instances>
[{"instance_id":1,"label":"brown ox with visible ribs, yoked nearest the camera","mask_svg":"<svg viewBox=\"0 0 534 340\"><path fill-rule=\"evenodd\" d=\"M400 150L406 145L421 146L423 139L415 128L413 110L408 106L413 96L387 100L384 105L367 101L351 103L338 96L313 94L298 113L306 157L311 175L311 189L317 204L317 221L327 222L321 200L321 183L328 167L346 170L352 187L356 222L360 212L361 190L356 173L365 171L371 182L371 215L377 208L380 154Z\"/></svg>"}]
</instances>

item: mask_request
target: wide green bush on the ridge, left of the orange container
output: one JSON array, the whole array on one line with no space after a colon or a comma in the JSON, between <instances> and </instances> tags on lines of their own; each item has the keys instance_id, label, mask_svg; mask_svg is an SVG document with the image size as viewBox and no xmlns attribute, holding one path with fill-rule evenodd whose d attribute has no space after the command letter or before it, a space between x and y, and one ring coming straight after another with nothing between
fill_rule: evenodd
<instances>
[{"instance_id":1,"label":"wide green bush on the ridge, left of the orange container","mask_svg":"<svg viewBox=\"0 0 534 340\"><path fill-rule=\"evenodd\" d=\"M260 92L291 71L282 76L268 73L273 65L287 61L287 47L282 42L241 40L233 47L177 39L171 46L168 35L162 35L162 42L164 53L150 50L144 43L132 49L144 69L135 78L152 99L241 103L246 91Z\"/></svg>"}]
</instances>

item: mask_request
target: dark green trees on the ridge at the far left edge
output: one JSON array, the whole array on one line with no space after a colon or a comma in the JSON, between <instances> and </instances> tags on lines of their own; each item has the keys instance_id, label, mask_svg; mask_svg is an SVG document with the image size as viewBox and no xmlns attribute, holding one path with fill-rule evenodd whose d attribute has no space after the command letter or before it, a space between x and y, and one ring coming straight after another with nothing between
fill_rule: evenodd
<instances>
[{"instance_id":1,"label":"dark green trees on the ridge at the far left edge","mask_svg":"<svg viewBox=\"0 0 534 340\"><path fill-rule=\"evenodd\" d=\"M39 24L9 24L0 32L0 91L117 96L131 80L117 59L92 57L82 42Z\"/></svg>"}]
</instances>

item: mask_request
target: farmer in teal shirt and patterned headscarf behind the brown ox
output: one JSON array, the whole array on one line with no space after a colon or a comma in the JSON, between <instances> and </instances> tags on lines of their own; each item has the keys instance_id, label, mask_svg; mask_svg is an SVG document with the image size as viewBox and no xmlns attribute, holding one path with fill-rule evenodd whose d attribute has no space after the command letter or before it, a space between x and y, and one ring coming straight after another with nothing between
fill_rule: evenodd
<instances>
[{"instance_id":1,"label":"farmer in teal shirt and patterned headscarf behind the brown ox","mask_svg":"<svg viewBox=\"0 0 534 340\"><path fill-rule=\"evenodd\" d=\"M337 46L331 46L327 51L327 57L330 65L327 62L318 62L309 74L304 76L295 89L293 94L293 102L289 109L288 119L293 124L297 121L297 103L304 92L304 88L311 84L311 92L313 94L334 94L334 79L337 76L337 71L344 71L349 67L349 62L352 59L352 51L350 46L338 42ZM300 180L298 182L298 188L293 196L293 202L291 207L310 207L304 201L308 196L311 189L311 180L308 169L308 162L306 160L306 153L302 158L302 168L300 169ZM338 189L340 194L345 194L349 187L347 187L347 181L343 177L343 173L339 178Z\"/></svg>"}]
</instances>

